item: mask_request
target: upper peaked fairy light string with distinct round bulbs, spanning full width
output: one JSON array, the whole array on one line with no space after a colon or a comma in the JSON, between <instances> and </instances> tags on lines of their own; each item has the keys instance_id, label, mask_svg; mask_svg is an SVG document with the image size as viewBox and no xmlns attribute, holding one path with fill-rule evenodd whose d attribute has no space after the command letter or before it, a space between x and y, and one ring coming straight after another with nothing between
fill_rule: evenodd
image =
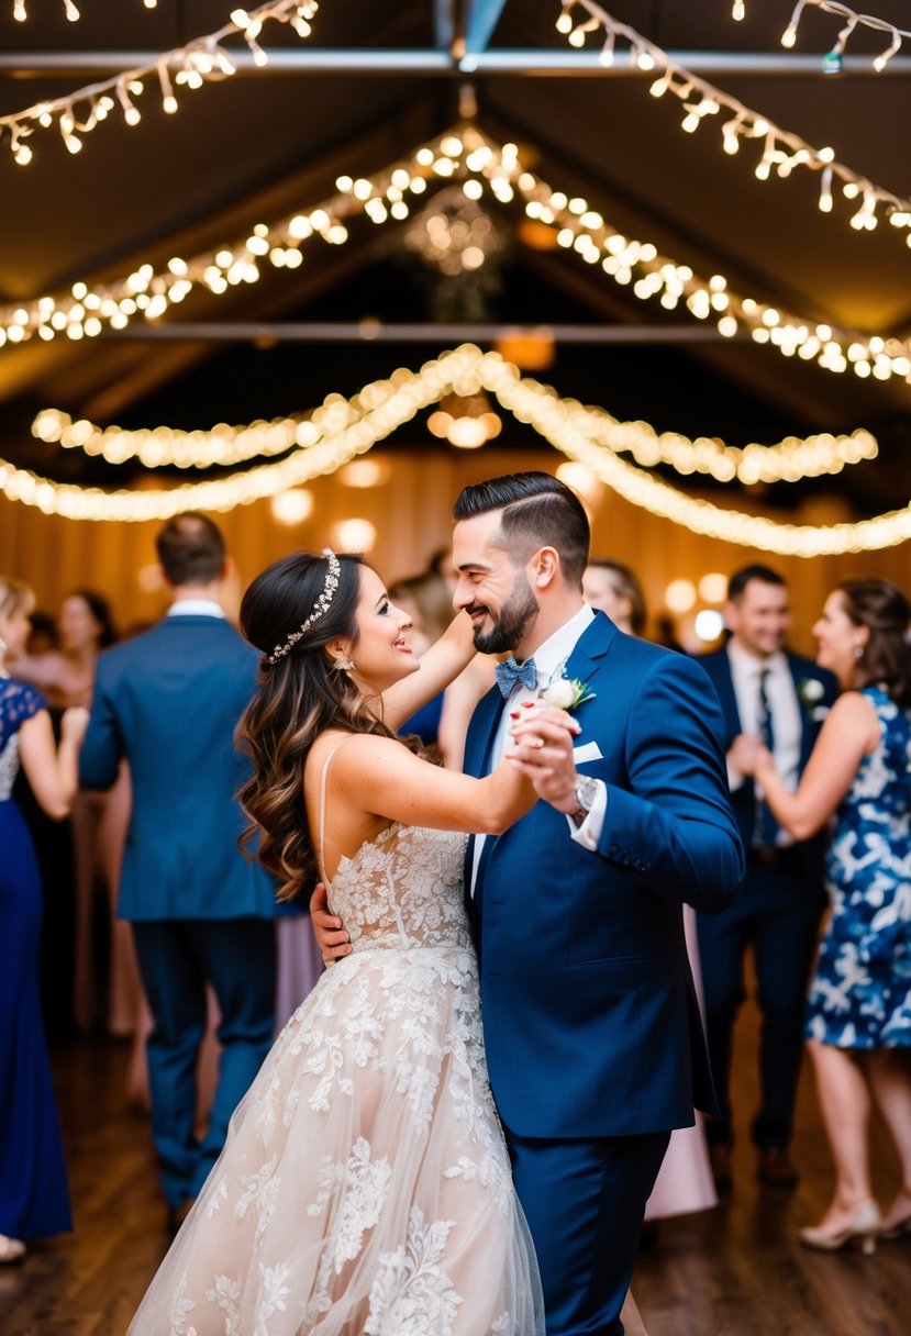
<instances>
[{"instance_id":1,"label":"upper peaked fairy light string with distinct round bulbs, spanning full width","mask_svg":"<svg viewBox=\"0 0 911 1336\"><path fill-rule=\"evenodd\" d=\"M700 277L651 242L625 236L582 196L554 190L529 171L516 144L498 144L474 124L447 130L374 176L339 176L329 199L278 222L256 223L246 236L211 251L172 257L158 269L147 262L92 289L77 282L65 294L0 307L0 347L33 337L95 338L134 319L162 319L196 287L218 295L258 282L266 263L297 269L317 240L345 244L351 218L366 215L377 226L401 222L415 198L453 182L470 183L473 199L490 195L502 206L521 203L526 216L550 228L578 263L598 266L640 301L657 301L668 311L680 306L693 319L712 321L725 338L743 329L783 357L815 361L835 374L850 370L862 379L911 381L910 338L839 329L739 294L723 274Z\"/></svg>"}]
</instances>

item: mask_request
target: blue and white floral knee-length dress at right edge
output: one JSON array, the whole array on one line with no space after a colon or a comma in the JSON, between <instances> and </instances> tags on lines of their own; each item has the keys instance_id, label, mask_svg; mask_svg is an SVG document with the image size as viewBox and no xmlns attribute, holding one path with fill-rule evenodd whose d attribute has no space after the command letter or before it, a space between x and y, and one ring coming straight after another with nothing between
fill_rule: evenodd
<instances>
[{"instance_id":1,"label":"blue and white floral knee-length dress at right edge","mask_svg":"<svg viewBox=\"0 0 911 1336\"><path fill-rule=\"evenodd\" d=\"M911 711L878 687L863 695L880 743L838 811L807 1034L840 1049L911 1047Z\"/></svg>"}]
</instances>

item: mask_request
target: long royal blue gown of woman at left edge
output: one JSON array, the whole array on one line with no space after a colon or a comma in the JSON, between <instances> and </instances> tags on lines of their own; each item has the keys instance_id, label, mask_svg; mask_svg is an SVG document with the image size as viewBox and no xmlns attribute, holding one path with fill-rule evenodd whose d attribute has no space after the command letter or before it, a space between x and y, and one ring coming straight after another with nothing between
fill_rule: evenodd
<instances>
[{"instance_id":1,"label":"long royal blue gown of woman at left edge","mask_svg":"<svg viewBox=\"0 0 911 1336\"><path fill-rule=\"evenodd\" d=\"M37 989L41 879L12 800L19 729L43 707L32 687L0 679L0 1234L12 1238L72 1229Z\"/></svg>"}]
</instances>

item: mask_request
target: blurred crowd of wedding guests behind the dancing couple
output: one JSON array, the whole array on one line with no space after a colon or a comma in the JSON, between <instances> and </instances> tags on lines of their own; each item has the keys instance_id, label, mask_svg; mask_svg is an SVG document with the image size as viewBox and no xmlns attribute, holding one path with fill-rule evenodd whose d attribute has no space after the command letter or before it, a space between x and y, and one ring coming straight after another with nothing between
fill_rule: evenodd
<instances>
[{"instance_id":1,"label":"blurred crowd of wedding guests behind the dancing couple","mask_svg":"<svg viewBox=\"0 0 911 1336\"><path fill-rule=\"evenodd\" d=\"M0 874L0 922L4 957L16 943L25 962L0 986L0 1261L21 1256L23 1240L69 1226L37 1019L41 899L45 1029L52 1038L99 1029L135 1038L131 1093L151 1102L174 1225L218 1154L277 1018L319 969L299 916L275 919L268 879L236 852L242 762L232 721L252 691L256 656L222 609L231 576L222 536L204 516L179 516L158 549L170 613L119 643L102 595L73 589L52 619L35 611L25 585L0 576L4 867L15 854L13 871ZM446 549L390 585L411 619L417 655L451 619L453 588ZM584 593L622 632L645 635L643 589L626 565L593 560ZM729 580L724 617L724 643L701 661L723 707L748 871L729 910L685 915L721 1117L673 1134L647 1218L703 1210L732 1189L732 1043L749 977L761 1013L749 1126L756 1172L771 1188L799 1181L789 1148L807 1047L835 1190L801 1238L871 1249L880 1237L911 1236L911 608L882 580L839 585L812 628L813 661L788 648L784 578L749 565ZM680 648L669 619L659 631ZM403 731L461 768L469 717L493 681L493 659L478 655ZM211 1058L200 1079L207 1043L211 1053L218 1043L222 1061L216 1075ZM29 1098L45 1117L29 1132L23 1051L36 1046ZM884 1213L870 1184L872 1108L902 1169Z\"/></svg>"}]
</instances>

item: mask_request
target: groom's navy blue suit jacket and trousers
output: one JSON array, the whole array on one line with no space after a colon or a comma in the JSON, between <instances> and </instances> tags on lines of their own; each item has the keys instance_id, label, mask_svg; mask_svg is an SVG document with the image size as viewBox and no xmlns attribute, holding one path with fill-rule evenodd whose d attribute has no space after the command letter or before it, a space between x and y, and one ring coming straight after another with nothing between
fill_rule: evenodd
<instances>
[{"instance_id":1,"label":"groom's navy blue suit jacket and trousers","mask_svg":"<svg viewBox=\"0 0 911 1336\"><path fill-rule=\"evenodd\" d=\"M541 1264L548 1336L613 1336L671 1129L715 1098L684 945L684 902L733 900L744 855L719 700L692 660L598 613L566 664L577 770L604 780L597 851L548 803L484 844L472 906L488 1065ZM484 775L504 707L478 705ZM468 868L472 867L469 850Z\"/></svg>"}]
</instances>

